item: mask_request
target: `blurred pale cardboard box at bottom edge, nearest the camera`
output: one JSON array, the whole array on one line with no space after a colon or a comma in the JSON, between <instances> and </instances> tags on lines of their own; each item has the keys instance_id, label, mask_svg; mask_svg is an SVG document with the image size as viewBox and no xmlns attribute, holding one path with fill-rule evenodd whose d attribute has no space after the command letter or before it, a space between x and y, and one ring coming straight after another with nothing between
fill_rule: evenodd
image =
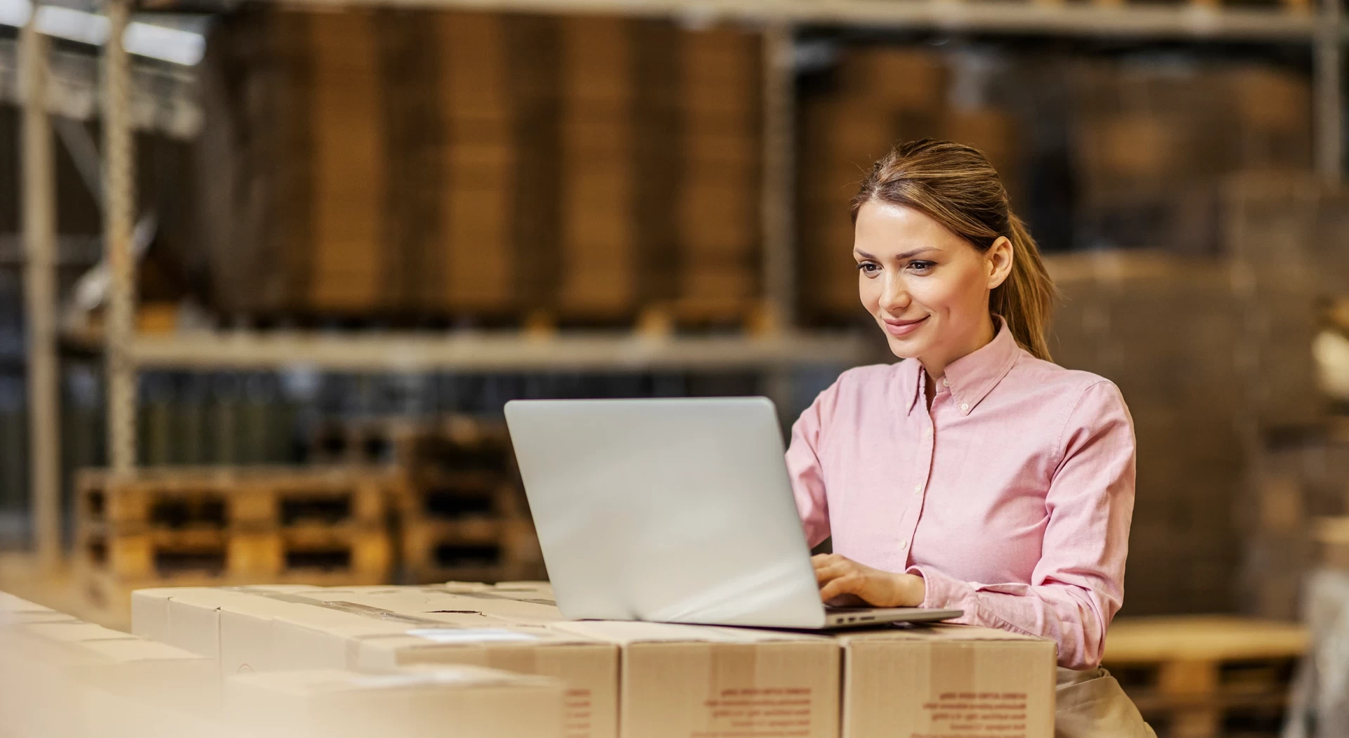
<instances>
[{"instance_id":1,"label":"blurred pale cardboard box at bottom edge, nearest the camera","mask_svg":"<svg viewBox=\"0 0 1349 738\"><path fill-rule=\"evenodd\" d=\"M472 666L357 675L240 675L225 688L243 734L313 738L561 738L557 680Z\"/></svg>"}]
</instances>

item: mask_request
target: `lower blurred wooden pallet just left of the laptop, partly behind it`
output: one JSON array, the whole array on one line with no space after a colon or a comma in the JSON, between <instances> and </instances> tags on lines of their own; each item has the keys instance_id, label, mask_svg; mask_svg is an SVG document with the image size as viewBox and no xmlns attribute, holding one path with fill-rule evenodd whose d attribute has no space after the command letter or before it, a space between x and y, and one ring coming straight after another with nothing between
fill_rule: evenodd
<instances>
[{"instance_id":1,"label":"lower blurred wooden pallet just left of the laptop, partly behind it","mask_svg":"<svg viewBox=\"0 0 1349 738\"><path fill-rule=\"evenodd\" d=\"M529 521L418 519L402 530L403 572L413 583L517 581L544 576Z\"/></svg>"}]
</instances>

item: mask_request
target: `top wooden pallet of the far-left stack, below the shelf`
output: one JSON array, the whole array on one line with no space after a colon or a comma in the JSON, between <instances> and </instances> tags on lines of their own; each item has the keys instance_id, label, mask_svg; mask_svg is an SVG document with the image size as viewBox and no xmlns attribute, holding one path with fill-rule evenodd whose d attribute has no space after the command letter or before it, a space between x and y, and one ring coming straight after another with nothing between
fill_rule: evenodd
<instances>
[{"instance_id":1,"label":"top wooden pallet of the far-left stack, below the shelf","mask_svg":"<svg viewBox=\"0 0 1349 738\"><path fill-rule=\"evenodd\" d=\"M285 467L150 468L116 478L84 470L76 482L80 525L121 532L382 525L393 472Z\"/></svg>"}]
</instances>

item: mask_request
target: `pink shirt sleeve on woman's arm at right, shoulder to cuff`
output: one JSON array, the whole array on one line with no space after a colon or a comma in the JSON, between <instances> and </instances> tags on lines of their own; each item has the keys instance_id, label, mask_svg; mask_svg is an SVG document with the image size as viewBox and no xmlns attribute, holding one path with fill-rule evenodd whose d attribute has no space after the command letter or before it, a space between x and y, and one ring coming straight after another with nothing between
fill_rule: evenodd
<instances>
[{"instance_id":1,"label":"pink shirt sleeve on woman's arm at right, shoulder to cuff","mask_svg":"<svg viewBox=\"0 0 1349 738\"><path fill-rule=\"evenodd\" d=\"M1133 517L1133 420L1110 382L1087 387L1060 433L1045 496L1050 522L1031 584L960 581L932 567L924 607L965 610L959 622L1052 638L1059 665L1101 662L1105 631L1124 599L1124 560Z\"/></svg>"}]
</instances>

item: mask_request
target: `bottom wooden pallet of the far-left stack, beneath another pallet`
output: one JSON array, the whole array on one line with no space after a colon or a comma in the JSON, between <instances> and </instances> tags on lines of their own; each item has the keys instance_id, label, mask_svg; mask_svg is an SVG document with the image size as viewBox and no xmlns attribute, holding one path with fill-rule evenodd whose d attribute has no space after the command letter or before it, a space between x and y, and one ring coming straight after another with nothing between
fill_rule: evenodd
<instances>
[{"instance_id":1,"label":"bottom wooden pallet of the far-left stack, beneath another pallet","mask_svg":"<svg viewBox=\"0 0 1349 738\"><path fill-rule=\"evenodd\" d=\"M391 549L387 529L359 525L148 529L128 534L89 523L77 532L74 561L81 572L121 581L154 580L161 587L202 577L260 583L328 573L348 583L380 583L391 571Z\"/></svg>"}]
</instances>

